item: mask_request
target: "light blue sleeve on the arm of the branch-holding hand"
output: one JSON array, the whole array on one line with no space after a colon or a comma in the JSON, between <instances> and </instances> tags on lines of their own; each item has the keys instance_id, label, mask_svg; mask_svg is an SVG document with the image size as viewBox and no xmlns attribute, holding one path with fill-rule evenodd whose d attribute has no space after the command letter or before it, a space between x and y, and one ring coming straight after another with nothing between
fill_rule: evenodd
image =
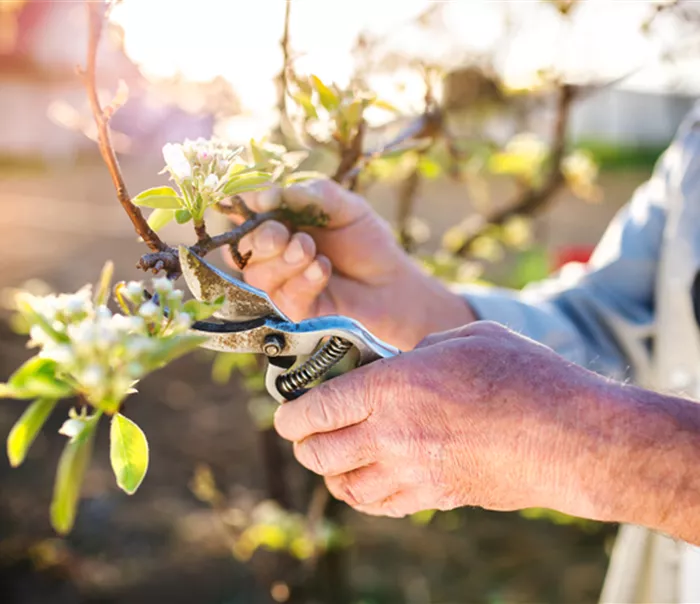
<instances>
[{"instance_id":1,"label":"light blue sleeve on the arm of the branch-holding hand","mask_svg":"<svg viewBox=\"0 0 700 604\"><path fill-rule=\"evenodd\" d=\"M587 264L570 264L522 291L460 288L479 319L506 325L615 379L648 366L654 292L673 177L700 152L697 112L681 126L652 177L609 225ZM691 162L694 163L694 162Z\"/></svg>"}]
</instances>

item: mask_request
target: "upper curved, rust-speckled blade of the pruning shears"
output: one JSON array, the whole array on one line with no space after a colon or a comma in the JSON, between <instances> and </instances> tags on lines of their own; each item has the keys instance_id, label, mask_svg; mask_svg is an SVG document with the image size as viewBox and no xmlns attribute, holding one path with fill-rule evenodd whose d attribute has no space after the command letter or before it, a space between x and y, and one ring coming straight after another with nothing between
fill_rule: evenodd
<instances>
[{"instance_id":1,"label":"upper curved, rust-speckled blade of the pruning shears","mask_svg":"<svg viewBox=\"0 0 700 604\"><path fill-rule=\"evenodd\" d=\"M214 302L221 295L225 297L215 317L228 321L278 317L291 323L264 291L220 271L184 245L180 246L179 254L182 275L195 298Z\"/></svg>"}]
</instances>

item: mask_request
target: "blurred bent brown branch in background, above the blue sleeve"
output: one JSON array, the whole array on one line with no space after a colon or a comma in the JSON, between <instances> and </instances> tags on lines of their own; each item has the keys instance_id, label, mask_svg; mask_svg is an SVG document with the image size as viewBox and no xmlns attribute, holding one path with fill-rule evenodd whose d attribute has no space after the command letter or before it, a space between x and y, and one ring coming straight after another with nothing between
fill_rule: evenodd
<instances>
[{"instance_id":1,"label":"blurred bent brown branch in background, above the blue sleeve","mask_svg":"<svg viewBox=\"0 0 700 604\"><path fill-rule=\"evenodd\" d=\"M549 174L537 188L528 189L517 199L489 217L479 217L478 222L471 228L464 242L455 252L458 256L467 255L474 242L491 226L500 226L514 216L533 215L542 211L555 193L564 185L562 162L566 154L566 132L569 123L571 106L576 97L577 88L563 84L557 99L556 117L552 133L552 152L549 159Z\"/></svg>"}]
</instances>

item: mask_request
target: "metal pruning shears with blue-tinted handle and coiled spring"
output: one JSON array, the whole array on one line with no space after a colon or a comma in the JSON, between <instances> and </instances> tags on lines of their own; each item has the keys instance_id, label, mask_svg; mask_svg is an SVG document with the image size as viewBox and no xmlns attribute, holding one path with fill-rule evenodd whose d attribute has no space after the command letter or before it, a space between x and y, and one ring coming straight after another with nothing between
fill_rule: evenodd
<instances>
[{"instance_id":1,"label":"metal pruning shears with blue-tinted handle and coiled spring","mask_svg":"<svg viewBox=\"0 0 700 604\"><path fill-rule=\"evenodd\" d=\"M349 355L354 355L354 367L359 367L399 354L348 317L295 323L264 291L220 271L185 246L179 255L192 295L200 302L224 300L214 320L192 325L198 334L209 336L203 348L264 354L268 361L265 386L279 403L304 394Z\"/></svg>"}]
</instances>

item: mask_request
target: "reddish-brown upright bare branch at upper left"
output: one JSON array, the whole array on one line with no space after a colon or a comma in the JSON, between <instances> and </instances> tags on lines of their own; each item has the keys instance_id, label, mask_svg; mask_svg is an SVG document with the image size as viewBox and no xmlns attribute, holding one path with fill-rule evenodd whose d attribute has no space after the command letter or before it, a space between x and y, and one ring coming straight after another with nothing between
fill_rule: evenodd
<instances>
[{"instance_id":1,"label":"reddish-brown upright bare branch at upper left","mask_svg":"<svg viewBox=\"0 0 700 604\"><path fill-rule=\"evenodd\" d=\"M138 235L151 250L160 252L168 249L168 246L158 237L156 232L148 226L148 222L146 222L141 210L131 202L131 197L126 189L124 177L119 167L119 161L114 151L109 128L109 119L118 109L118 105L113 103L108 108L108 111L105 112L100 105L100 99L97 94L97 49L100 44L104 21L104 14L101 11L102 5L99 2L86 0L85 7L87 9L89 22L87 63L85 69L79 69L79 73L83 79L85 89L87 90L90 108L93 118L95 119L95 125L97 126L97 140L100 154L105 164L107 164L109 175L112 177L114 188L117 191L119 203L121 203L127 216L129 216L131 223L134 225L134 229L136 229Z\"/></svg>"}]
</instances>

